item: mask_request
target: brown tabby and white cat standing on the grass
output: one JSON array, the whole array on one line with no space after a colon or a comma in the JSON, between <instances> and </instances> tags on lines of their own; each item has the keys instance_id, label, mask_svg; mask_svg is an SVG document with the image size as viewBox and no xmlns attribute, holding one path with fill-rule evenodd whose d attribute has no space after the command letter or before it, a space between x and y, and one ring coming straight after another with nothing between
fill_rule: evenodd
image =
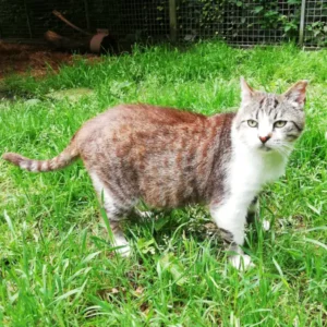
<instances>
[{"instance_id":1,"label":"brown tabby and white cat standing on the grass","mask_svg":"<svg viewBox=\"0 0 327 327\"><path fill-rule=\"evenodd\" d=\"M120 227L140 199L156 208L209 206L230 263L252 266L241 249L262 186L283 174L304 123L306 81L283 95L254 90L241 77L238 112L206 117L149 105L120 105L87 121L49 160L7 153L22 169L61 169L78 157L107 213L113 242L130 254Z\"/></svg>"}]
</instances>

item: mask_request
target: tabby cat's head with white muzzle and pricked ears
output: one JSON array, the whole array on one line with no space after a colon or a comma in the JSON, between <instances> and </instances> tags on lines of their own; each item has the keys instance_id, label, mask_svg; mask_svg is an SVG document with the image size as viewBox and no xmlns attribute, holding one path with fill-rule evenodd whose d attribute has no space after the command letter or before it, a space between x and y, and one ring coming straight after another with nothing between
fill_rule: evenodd
<instances>
[{"instance_id":1,"label":"tabby cat's head with white muzzle and pricked ears","mask_svg":"<svg viewBox=\"0 0 327 327\"><path fill-rule=\"evenodd\" d=\"M241 77L241 108L235 118L238 140L252 149L288 155L304 129L307 82L300 81L284 94L254 90Z\"/></svg>"}]
</instances>

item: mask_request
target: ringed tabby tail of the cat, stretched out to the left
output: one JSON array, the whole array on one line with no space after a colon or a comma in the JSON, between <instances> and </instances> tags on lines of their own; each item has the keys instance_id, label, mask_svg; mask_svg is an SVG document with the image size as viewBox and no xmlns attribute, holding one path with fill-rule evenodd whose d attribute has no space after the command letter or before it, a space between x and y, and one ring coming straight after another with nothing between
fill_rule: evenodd
<instances>
[{"instance_id":1,"label":"ringed tabby tail of the cat, stretched out to the left","mask_svg":"<svg viewBox=\"0 0 327 327\"><path fill-rule=\"evenodd\" d=\"M62 169L71 165L80 156L78 149L72 142L61 154L49 160L34 160L25 158L19 154L7 153L2 158L19 166L22 169L33 172L46 172Z\"/></svg>"}]
</instances>

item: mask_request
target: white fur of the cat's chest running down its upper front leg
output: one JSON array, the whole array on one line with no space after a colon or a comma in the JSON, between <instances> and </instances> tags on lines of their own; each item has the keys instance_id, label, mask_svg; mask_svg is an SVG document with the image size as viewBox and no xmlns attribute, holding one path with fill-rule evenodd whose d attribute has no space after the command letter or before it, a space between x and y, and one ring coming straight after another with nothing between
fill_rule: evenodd
<instances>
[{"instance_id":1,"label":"white fur of the cat's chest running down its upper front leg","mask_svg":"<svg viewBox=\"0 0 327 327\"><path fill-rule=\"evenodd\" d=\"M276 180L284 171L286 158L275 153L250 150L233 142L232 158L228 165L226 197L210 213L217 226L232 234L233 242L243 244L247 208L262 186Z\"/></svg>"}]
</instances>

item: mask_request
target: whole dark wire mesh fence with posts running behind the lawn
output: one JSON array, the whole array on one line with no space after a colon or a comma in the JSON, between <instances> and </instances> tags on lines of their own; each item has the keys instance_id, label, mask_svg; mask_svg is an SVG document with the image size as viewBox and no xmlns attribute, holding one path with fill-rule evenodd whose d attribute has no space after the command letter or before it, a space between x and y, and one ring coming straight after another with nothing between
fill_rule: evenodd
<instances>
[{"instance_id":1,"label":"whole dark wire mesh fence with posts running behind the lawn","mask_svg":"<svg viewBox=\"0 0 327 327\"><path fill-rule=\"evenodd\" d=\"M40 39L49 29L72 36L53 10L131 44L218 37L241 46L327 46L327 0L0 0L0 39Z\"/></svg>"}]
</instances>

